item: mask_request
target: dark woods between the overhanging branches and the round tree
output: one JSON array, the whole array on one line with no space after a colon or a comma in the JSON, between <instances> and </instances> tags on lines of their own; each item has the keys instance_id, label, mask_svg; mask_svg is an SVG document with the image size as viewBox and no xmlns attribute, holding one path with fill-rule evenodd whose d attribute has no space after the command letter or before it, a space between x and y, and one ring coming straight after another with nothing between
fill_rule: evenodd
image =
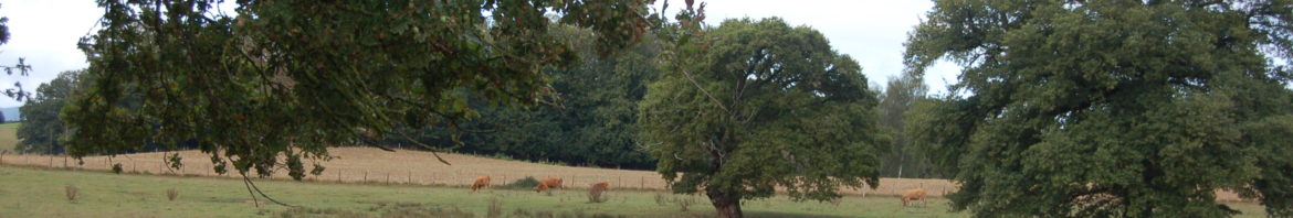
<instances>
[{"instance_id":1,"label":"dark woods between the overhanging branches and the round tree","mask_svg":"<svg viewBox=\"0 0 1293 218\"><path fill-rule=\"evenodd\" d=\"M472 97L469 106L480 117L460 124L484 133L459 134L449 126L410 130L431 144L463 144L458 152L495 154L530 161L560 161L606 168L654 169L656 163L635 139L637 102L646 84L659 74L661 41L644 37L637 45L613 57L599 57L593 32L569 26L553 27L553 35L572 43L582 57L578 64L544 72L555 95L550 104L516 108L489 104ZM411 144L388 137L384 144Z\"/></svg>"}]
</instances>

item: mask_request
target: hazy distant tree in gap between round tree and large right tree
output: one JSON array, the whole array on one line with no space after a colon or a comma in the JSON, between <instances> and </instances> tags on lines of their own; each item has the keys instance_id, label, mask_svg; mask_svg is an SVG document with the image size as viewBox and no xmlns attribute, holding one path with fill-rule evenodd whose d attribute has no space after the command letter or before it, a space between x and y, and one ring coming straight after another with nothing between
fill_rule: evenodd
<instances>
[{"instance_id":1,"label":"hazy distant tree in gap between round tree and large right tree","mask_svg":"<svg viewBox=\"0 0 1293 218\"><path fill-rule=\"evenodd\" d=\"M893 143L888 152L881 155L881 175L897 178L945 177L919 152L913 152L914 148L908 146L910 143L905 135L908 111L918 101L926 101L926 92L928 88L924 85L924 79L912 74L890 77L888 85L884 86L877 108L881 125L892 130Z\"/></svg>"}]
</instances>

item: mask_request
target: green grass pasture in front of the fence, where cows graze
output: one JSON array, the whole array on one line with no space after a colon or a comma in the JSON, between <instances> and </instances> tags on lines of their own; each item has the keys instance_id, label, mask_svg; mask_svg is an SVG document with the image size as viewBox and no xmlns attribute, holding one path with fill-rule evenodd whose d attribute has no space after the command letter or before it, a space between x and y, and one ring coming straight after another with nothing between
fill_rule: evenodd
<instances>
[{"instance_id":1,"label":"green grass pasture in front of the fence, where cows graze","mask_svg":"<svg viewBox=\"0 0 1293 218\"><path fill-rule=\"evenodd\" d=\"M238 179L112 174L0 166L0 217L486 217L491 201L503 217L710 217L702 196L643 191L606 193L609 201L587 203L586 190L552 196L529 190L469 193L460 187L400 184L336 184L262 181L270 196L303 208L252 205ZM78 187L67 200L65 187ZM180 195L167 200L167 190ZM657 199L659 199L657 201ZM264 199L261 199L264 200ZM688 203L681 212L681 204ZM838 205L794 203L785 197L747 201L749 217L967 217L948 213L944 200L926 208L900 208L893 197L850 196Z\"/></svg>"}]
</instances>

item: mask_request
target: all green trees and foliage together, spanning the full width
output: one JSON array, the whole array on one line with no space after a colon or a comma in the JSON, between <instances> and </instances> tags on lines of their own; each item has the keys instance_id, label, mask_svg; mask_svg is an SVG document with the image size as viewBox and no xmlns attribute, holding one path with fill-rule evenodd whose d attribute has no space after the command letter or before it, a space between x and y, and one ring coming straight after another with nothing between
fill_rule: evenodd
<instances>
[{"instance_id":1,"label":"all green trees and foliage together, spanning the full width","mask_svg":"<svg viewBox=\"0 0 1293 218\"><path fill-rule=\"evenodd\" d=\"M887 81L808 26L690 0L213 3L101 0L89 68L37 88L18 150L297 179L334 146L654 169L720 217L881 177L949 178L976 217L1234 215L1215 190L1293 215L1289 0L936 0ZM932 94L943 61L959 81Z\"/></svg>"}]
</instances>

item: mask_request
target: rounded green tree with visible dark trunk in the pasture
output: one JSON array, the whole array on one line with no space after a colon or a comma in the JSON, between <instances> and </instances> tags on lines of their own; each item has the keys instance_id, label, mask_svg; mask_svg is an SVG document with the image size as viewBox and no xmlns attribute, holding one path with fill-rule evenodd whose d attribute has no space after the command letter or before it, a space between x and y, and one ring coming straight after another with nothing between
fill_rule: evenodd
<instances>
[{"instance_id":1,"label":"rounded green tree with visible dark trunk in the pasture","mask_svg":"<svg viewBox=\"0 0 1293 218\"><path fill-rule=\"evenodd\" d=\"M728 19L674 53L648 86L641 138L680 193L703 190L719 217L785 188L795 200L877 186L888 139L861 67L809 27ZM707 48L707 49L706 49Z\"/></svg>"}]
</instances>

